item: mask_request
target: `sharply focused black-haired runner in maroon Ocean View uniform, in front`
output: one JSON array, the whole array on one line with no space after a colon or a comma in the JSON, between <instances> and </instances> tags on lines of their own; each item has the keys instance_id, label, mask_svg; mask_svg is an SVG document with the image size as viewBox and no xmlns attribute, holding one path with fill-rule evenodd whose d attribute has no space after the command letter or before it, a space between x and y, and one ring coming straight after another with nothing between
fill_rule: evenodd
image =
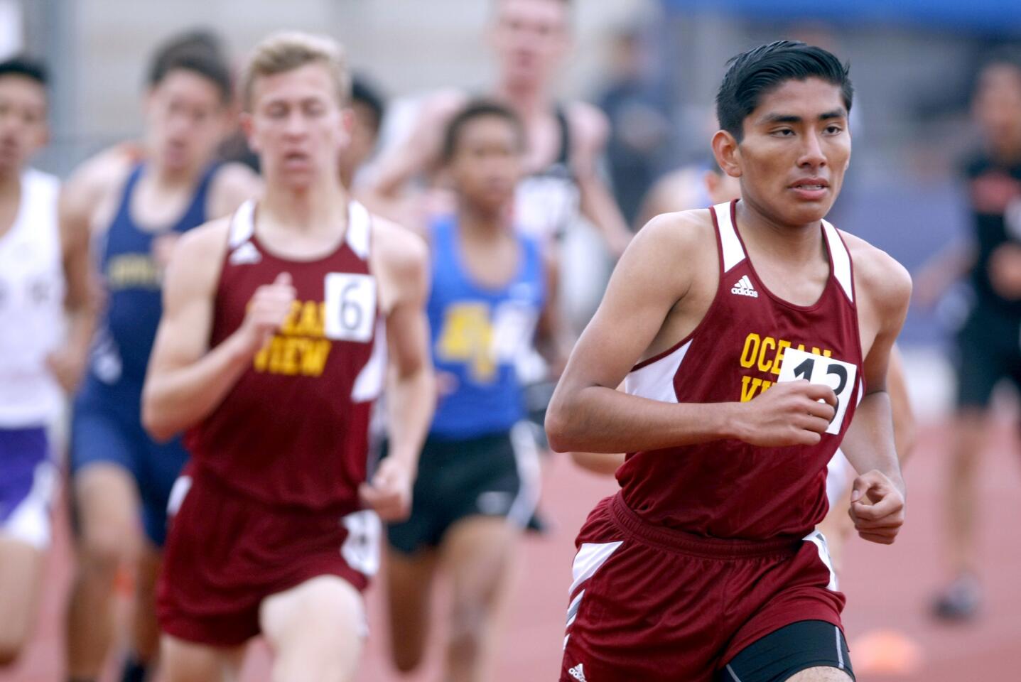
<instances>
[{"instance_id":1,"label":"sharply focused black-haired runner in maroon Ocean View uniform, in front","mask_svg":"<svg viewBox=\"0 0 1021 682\"><path fill-rule=\"evenodd\" d=\"M841 440L859 534L903 524L885 376L911 280L823 220L852 93L817 47L732 60L713 149L741 199L649 223L575 348L550 443L631 454L577 540L566 682L853 678L813 529Z\"/></svg>"}]
</instances>

